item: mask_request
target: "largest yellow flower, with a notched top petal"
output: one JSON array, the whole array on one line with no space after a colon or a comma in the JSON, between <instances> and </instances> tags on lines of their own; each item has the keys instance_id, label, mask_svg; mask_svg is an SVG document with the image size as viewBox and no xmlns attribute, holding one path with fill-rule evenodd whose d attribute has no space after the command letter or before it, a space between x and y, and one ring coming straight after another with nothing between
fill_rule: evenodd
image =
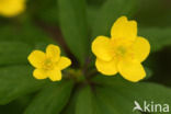
<instances>
[{"instance_id":1,"label":"largest yellow flower, with a notched top petal","mask_svg":"<svg viewBox=\"0 0 171 114\"><path fill-rule=\"evenodd\" d=\"M111 38L98 36L92 43L96 56L96 69L106 76L119 72L125 79L137 82L146 77L141 62L150 52L149 42L137 36L136 21L126 16L116 20L111 30Z\"/></svg>"}]
</instances>

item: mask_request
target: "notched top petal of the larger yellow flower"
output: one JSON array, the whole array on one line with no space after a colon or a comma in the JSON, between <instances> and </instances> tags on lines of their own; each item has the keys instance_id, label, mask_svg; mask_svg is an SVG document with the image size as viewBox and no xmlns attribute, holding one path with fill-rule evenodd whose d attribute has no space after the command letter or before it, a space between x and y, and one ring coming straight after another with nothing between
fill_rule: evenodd
<instances>
[{"instance_id":1,"label":"notched top petal of the larger yellow flower","mask_svg":"<svg viewBox=\"0 0 171 114\"><path fill-rule=\"evenodd\" d=\"M111 30L112 38L127 38L135 41L137 36L137 22L128 21L126 16L116 20Z\"/></svg>"}]
</instances>

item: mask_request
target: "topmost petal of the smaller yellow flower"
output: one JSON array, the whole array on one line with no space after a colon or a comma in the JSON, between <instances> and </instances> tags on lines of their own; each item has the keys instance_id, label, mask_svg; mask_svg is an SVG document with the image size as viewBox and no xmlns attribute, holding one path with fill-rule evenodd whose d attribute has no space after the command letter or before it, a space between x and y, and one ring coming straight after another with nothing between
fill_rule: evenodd
<instances>
[{"instance_id":1,"label":"topmost petal of the smaller yellow flower","mask_svg":"<svg viewBox=\"0 0 171 114\"><path fill-rule=\"evenodd\" d=\"M54 60L58 60L60 57L60 48L56 45L50 44L46 48L46 55Z\"/></svg>"}]
</instances>

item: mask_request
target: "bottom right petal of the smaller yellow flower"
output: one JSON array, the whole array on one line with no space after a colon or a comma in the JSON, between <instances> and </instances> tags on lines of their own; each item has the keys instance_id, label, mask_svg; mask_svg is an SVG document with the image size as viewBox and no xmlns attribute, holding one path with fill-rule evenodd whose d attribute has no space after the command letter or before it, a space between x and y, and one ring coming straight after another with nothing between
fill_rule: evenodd
<instances>
[{"instance_id":1,"label":"bottom right petal of the smaller yellow flower","mask_svg":"<svg viewBox=\"0 0 171 114\"><path fill-rule=\"evenodd\" d=\"M48 77L52 81L60 81L61 80L61 71L58 68L48 71Z\"/></svg>"}]
</instances>

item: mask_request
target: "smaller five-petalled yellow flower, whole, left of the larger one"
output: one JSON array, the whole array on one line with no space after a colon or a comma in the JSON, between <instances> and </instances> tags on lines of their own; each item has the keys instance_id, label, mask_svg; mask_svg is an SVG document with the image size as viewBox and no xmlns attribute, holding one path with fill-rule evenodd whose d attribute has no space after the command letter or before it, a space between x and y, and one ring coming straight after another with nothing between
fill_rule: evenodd
<instances>
[{"instance_id":1,"label":"smaller five-petalled yellow flower, whole, left of the larger one","mask_svg":"<svg viewBox=\"0 0 171 114\"><path fill-rule=\"evenodd\" d=\"M36 68L33 71L36 79L49 78L52 81L61 80L61 70L71 65L71 60L60 56L60 48L53 44L47 46L46 54L41 50L32 52L29 61Z\"/></svg>"}]
</instances>

